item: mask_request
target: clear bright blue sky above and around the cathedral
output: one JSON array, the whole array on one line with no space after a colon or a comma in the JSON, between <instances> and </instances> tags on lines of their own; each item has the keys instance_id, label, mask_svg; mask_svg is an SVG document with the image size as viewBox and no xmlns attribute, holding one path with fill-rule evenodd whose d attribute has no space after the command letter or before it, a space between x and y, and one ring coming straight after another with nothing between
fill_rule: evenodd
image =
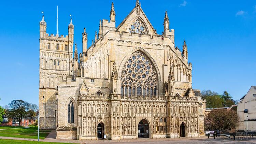
<instances>
[{"instance_id":1,"label":"clear bright blue sky above and around the cathedral","mask_svg":"<svg viewBox=\"0 0 256 144\"><path fill-rule=\"evenodd\" d=\"M13 99L38 104L39 21L44 11L47 33L68 34L73 18L74 42L82 52L82 32L88 44L98 31L99 20L109 19L112 0L98 1L2 1L0 5L0 105ZM256 85L256 1L254 0L140 0L158 34L168 11L175 45L185 39L188 61L193 64L193 88L230 92L240 99ZM114 0L116 26L134 8L136 0Z\"/></svg>"}]
</instances>

